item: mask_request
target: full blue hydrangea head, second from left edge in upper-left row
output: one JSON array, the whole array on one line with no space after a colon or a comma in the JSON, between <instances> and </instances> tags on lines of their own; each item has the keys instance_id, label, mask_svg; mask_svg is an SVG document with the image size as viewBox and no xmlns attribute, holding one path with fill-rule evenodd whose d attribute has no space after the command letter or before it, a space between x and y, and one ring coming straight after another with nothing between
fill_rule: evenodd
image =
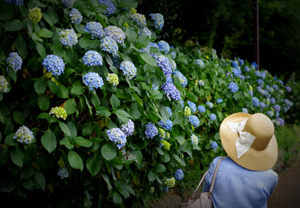
<instances>
[{"instance_id":1,"label":"full blue hydrangea head, second from left edge in upper-left row","mask_svg":"<svg viewBox=\"0 0 300 208\"><path fill-rule=\"evenodd\" d=\"M53 54L47 55L43 60L43 65L48 72L52 71L52 75L61 75L64 73L64 60Z\"/></svg>"}]
</instances>

